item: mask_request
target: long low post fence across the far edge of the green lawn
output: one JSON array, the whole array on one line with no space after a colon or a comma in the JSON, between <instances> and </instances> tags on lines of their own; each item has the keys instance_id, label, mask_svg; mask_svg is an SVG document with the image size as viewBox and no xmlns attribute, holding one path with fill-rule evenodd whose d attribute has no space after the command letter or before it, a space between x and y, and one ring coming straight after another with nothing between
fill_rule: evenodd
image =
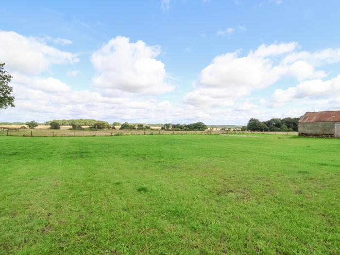
<instances>
[{"instance_id":1,"label":"long low post fence across the far edge of the green lawn","mask_svg":"<svg viewBox=\"0 0 340 255\"><path fill-rule=\"evenodd\" d=\"M297 132L251 132L251 131L178 131L178 130L51 130L0 128L5 136L120 136L120 135L214 135L214 134L272 134L297 136Z\"/></svg>"}]
</instances>

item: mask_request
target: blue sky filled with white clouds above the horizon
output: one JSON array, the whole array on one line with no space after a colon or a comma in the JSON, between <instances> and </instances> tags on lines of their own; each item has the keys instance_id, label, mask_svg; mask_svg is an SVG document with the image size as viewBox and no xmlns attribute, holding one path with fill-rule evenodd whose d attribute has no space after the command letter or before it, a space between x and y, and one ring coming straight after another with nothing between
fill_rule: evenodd
<instances>
[{"instance_id":1,"label":"blue sky filled with white clouds above the horizon","mask_svg":"<svg viewBox=\"0 0 340 255\"><path fill-rule=\"evenodd\" d=\"M340 110L338 0L4 1L0 122L244 125Z\"/></svg>"}]
</instances>

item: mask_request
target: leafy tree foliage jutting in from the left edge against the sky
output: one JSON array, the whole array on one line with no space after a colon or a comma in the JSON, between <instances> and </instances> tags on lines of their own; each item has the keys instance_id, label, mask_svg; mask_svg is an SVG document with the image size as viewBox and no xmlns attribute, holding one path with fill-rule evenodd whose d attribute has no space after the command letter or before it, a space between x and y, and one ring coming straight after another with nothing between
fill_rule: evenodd
<instances>
[{"instance_id":1,"label":"leafy tree foliage jutting in from the left edge against the sky","mask_svg":"<svg viewBox=\"0 0 340 255\"><path fill-rule=\"evenodd\" d=\"M0 109L6 109L8 106L14 107L15 97L11 96L13 88L8 85L12 76L3 69L5 63L0 64Z\"/></svg>"}]
</instances>

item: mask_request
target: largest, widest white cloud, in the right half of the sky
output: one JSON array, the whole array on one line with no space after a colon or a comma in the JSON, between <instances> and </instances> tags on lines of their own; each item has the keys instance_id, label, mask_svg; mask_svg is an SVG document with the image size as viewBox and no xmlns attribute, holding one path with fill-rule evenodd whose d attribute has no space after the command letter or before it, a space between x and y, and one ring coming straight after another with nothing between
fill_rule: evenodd
<instances>
[{"instance_id":1,"label":"largest, widest white cloud, in the right half of the sky","mask_svg":"<svg viewBox=\"0 0 340 255\"><path fill-rule=\"evenodd\" d=\"M184 97L184 102L191 105L222 104L223 100L237 100L283 78L292 77L300 82L322 79L327 74L316 69L307 59L322 60L323 63L334 63L337 59L328 50L300 54L299 49L297 42L274 43L260 45L245 56L240 56L238 51L219 55L201 71L199 80L194 83L195 90ZM291 91L279 90L277 97L285 101L287 93Z\"/></svg>"}]
</instances>

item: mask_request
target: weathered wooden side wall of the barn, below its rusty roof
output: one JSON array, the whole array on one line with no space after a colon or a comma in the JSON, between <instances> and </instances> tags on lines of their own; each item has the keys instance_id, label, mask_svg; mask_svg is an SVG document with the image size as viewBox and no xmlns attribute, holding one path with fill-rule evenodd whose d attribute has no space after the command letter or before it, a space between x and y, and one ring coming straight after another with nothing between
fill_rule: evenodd
<instances>
[{"instance_id":1,"label":"weathered wooden side wall of the barn, below its rusty roof","mask_svg":"<svg viewBox=\"0 0 340 255\"><path fill-rule=\"evenodd\" d=\"M299 122L299 135L334 136L334 122Z\"/></svg>"}]
</instances>

